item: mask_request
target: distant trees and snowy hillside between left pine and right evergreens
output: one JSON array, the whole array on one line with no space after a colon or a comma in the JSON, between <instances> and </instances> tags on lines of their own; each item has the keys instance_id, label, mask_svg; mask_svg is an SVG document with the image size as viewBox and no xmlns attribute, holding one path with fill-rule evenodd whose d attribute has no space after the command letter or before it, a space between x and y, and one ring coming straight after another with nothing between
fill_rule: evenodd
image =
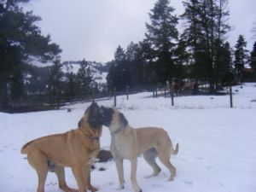
<instances>
[{"instance_id":1,"label":"distant trees and snowy hillside between left pine and right evergreens","mask_svg":"<svg viewBox=\"0 0 256 192\"><path fill-rule=\"evenodd\" d=\"M107 69L101 63L85 60L61 63L57 60L50 67L27 67L21 95L25 100L71 101L107 91L106 84L102 82L102 73L106 73Z\"/></svg>"}]
</instances>

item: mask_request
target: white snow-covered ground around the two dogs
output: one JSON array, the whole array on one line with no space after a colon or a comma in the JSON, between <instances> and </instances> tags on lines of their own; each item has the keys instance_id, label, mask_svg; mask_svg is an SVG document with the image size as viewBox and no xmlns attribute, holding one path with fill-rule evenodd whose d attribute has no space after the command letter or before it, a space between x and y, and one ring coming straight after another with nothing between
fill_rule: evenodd
<instances>
[{"instance_id":1,"label":"white snow-covered ground around the two dogs","mask_svg":"<svg viewBox=\"0 0 256 192\"><path fill-rule=\"evenodd\" d=\"M137 181L144 192L254 192L256 191L256 84L233 88L234 108L229 96L175 97L175 107L170 98L149 97L145 92L118 97L118 108L134 127L154 125L165 128L172 143L179 143L172 164L177 177L168 182L169 172L160 164L158 177L144 178L152 170L138 157ZM238 91L235 91L238 90ZM112 106L113 100L98 102ZM79 103L67 113L65 108L37 113L0 113L0 191L34 192L37 190L36 172L28 165L21 146L36 137L76 128L79 119L90 103ZM103 127L101 146L108 149L110 134ZM99 171L104 167L107 170ZM67 183L77 188L73 174L66 169ZM58 189L55 174L49 173L45 191ZM125 189L132 191L130 163L125 160ZM118 176L113 161L96 163L92 183L102 192L116 191Z\"/></svg>"}]
</instances>

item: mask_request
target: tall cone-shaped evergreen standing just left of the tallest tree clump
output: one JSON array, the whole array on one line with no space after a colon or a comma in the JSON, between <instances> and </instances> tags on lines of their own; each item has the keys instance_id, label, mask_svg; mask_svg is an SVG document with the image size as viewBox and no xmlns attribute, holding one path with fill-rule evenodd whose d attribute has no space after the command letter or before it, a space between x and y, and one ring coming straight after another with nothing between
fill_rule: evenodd
<instances>
[{"instance_id":1,"label":"tall cone-shaped evergreen standing just left of the tallest tree clump","mask_svg":"<svg viewBox=\"0 0 256 192\"><path fill-rule=\"evenodd\" d=\"M153 49L154 60L157 61L157 76L162 83L172 80L175 75L173 57L175 57L178 32L174 10L169 0L158 0L149 13L151 24L146 23L146 40Z\"/></svg>"}]
</instances>

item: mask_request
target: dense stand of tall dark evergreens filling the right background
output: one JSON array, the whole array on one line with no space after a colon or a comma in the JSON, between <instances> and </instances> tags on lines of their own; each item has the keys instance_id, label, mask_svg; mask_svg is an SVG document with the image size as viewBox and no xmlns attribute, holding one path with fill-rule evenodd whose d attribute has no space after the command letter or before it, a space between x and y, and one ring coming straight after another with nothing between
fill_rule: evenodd
<instances>
[{"instance_id":1,"label":"dense stand of tall dark evergreens filling the right background","mask_svg":"<svg viewBox=\"0 0 256 192\"><path fill-rule=\"evenodd\" d=\"M247 65L255 69L256 44L249 55L242 35L234 49L226 41L231 30L227 0L186 0L183 6L177 17L169 0L154 4L145 38L126 49L118 46L108 62L109 89L193 79L207 81L214 92L224 83L240 82ZM178 22L183 32L177 31Z\"/></svg>"}]
</instances>

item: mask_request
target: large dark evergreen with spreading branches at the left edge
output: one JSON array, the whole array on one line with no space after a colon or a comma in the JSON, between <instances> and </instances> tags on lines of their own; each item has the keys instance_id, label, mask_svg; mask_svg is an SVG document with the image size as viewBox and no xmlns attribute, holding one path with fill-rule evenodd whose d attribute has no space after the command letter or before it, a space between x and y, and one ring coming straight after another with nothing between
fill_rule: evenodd
<instances>
[{"instance_id":1,"label":"large dark evergreen with spreading branches at the left edge","mask_svg":"<svg viewBox=\"0 0 256 192\"><path fill-rule=\"evenodd\" d=\"M52 61L61 52L58 45L50 43L49 36L41 35L32 12L24 13L20 3L29 0L0 2L0 108L8 105L8 84L12 96L20 98L23 88L24 64L34 59Z\"/></svg>"}]
</instances>

